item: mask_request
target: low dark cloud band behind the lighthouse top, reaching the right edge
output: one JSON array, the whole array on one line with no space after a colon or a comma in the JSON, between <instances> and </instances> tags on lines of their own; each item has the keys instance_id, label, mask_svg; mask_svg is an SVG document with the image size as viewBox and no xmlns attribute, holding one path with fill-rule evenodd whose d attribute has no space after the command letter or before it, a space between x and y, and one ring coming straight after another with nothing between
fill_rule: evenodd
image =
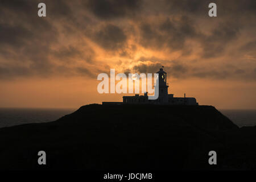
<instances>
[{"instance_id":1,"label":"low dark cloud band behind the lighthouse top, reaching the right edge","mask_svg":"<svg viewBox=\"0 0 256 182\"><path fill-rule=\"evenodd\" d=\"M166 61L167 62L167 61ZM237 68L233 65L225 65L225 69L222 67L211 68L203 67L198 65L188 65L185 61L172 60L168 61L168 65L164 66L164 71L166 71L168 76L179 79L187 78L207 78L211 80L225 80L230 78L235 78L238 80L250 80L255 81L255 69L250 69L250 71L245 71L241 68ZM147 61L146 63L139 63L134 65L132 70L137 73L156 73L162 64L153 63ZM130 70L129 70L130 71Z\"/></svg>"}]
</instances>

